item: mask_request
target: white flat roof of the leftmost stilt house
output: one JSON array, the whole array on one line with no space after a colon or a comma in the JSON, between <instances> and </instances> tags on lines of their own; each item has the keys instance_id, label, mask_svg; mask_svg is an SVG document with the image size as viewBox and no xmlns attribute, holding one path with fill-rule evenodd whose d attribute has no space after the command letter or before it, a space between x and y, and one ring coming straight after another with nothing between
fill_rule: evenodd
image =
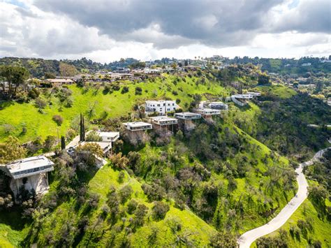
<instances>
[{"instance_id":1,"label":"white flat roof of the leftmost stilt house","mask_svg":"<svg viewBox=\"0 0 331 248\"><path fill-rule=\"evenodd\" d=\"M47 159L45 156L31 156L27 159L20 159L13 161L7 165L7 168L11 174L20 172L22 170L29 170L34 168L40 168L43 166L53 166L54 163Z\"/></svg>"}]
</instances>

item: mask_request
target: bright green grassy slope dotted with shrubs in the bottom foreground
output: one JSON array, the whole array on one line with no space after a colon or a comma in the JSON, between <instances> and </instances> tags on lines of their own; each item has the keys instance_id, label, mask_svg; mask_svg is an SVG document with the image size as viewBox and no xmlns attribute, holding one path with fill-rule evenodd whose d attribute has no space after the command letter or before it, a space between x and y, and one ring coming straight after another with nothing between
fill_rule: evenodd
<instances>
[{"instance_id":1,"label":"bright green grassy slope dotted with shrubs in the bottom foreground","mask_svg":"<svg viewBox=\"0 0 331 248\"><path fill-rule=\"evenodd\" d=\"M27 236L24 244L31 245L31 243L37 242L38 246L44 247L52 244L52 240L58 243L59 240L63 239L64 226L70 226L67 231L72 235L71 241L80 247L105 247L109 245L121 247L124 244L132 244L136 247L171 246L177 244L177 237L185 237L186 235L189 235L187 242L191 242L192 245L205 246L209 243L209 237L216 233L214 228L196 217L193 212L178 210L172 206L171 202L169 202L171 206L165 219L154 221L151 213L154 203L147 200L140 182L129 176L128 173L125 173L122 182L118 182L118 177L119 171L113 170L110 165L98 170L87 184L89 194L97 194L100 197L98 205L92 210L87 210L86 205L78 206L76 198L66 200L43 219L39 231L36 231L35 226L31 226L30 235ZM149 207L145 224L134 231L128 231L132 228L130 219L134 218L133 214L126 212L128 203L119 206L122 212L121 218L114 221L109 215L108 217L101 217L110 187L114 187L118 191L127 185L133 189L131 199ZM88 227L84 234L80 235L78 223L84 216L89 217L89 224L87 224ZM174 224L180 228L174 230Z\"/></svg>"}]
</instances>

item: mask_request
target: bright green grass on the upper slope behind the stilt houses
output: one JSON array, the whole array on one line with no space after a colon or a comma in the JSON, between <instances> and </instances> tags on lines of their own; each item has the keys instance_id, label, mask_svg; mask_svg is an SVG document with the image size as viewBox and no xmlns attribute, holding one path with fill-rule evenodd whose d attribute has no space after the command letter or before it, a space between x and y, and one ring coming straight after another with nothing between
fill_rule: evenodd
<instances>
[{"instance_id":1,"label":"bright green grass on the upper slope behind the stilt houses","mask_svg":"<svg viewBox=\"0 0 331 248\"><path fill-rule=\"evenodd\" d=\"M45 139L47 136L57 136L57 124L52 121L54 115L64 117L64 122L59 126L59 135L65 135L70 128L73 119L77 119L82 112L87 116L87 110L95 104L94 115L91 119L99 118L102 112L107 112L108 117L128 116L132 112L135 103L142 104L145 99L162 99L165 97L171 99L180 99L179 105L185 109L193 99L188 94L211 93L215 95L224 94L226 89L214 82L206 80L205 84L196 85L198 78L185 78L178 80L173 75L167 75L166 78L156 78L154 82L122 82L129 88L128 93L121 94L121 89L112 94L105 94L103 87L89 87L88 91L75 85L69 85L73 92L73 106L71 108L61 108L61 104L54 96L47 99L52 105L47 105L44 113L38 112L34 106L34 101L30 103L0 103L0 141L6 140L11 136L16 136L22 143L28 142L40 136ZM175 84L173 83L175 82ZM135 87L142 88L142 95L135 95ZM177 92L177 96L172 94ZM2 108L2 110L1 110ZM4 126L9 124L12 130L6 132ZM23 127L27 128L27 133L22 133Z\"/></svg>"}]
</instances>

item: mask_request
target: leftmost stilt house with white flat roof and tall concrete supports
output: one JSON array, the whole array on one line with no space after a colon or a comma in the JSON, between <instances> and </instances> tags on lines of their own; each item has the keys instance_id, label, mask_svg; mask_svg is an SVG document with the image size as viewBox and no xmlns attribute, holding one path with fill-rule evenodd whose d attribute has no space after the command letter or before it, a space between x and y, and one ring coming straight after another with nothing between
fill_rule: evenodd
<instances>
[{"instance_id":1,"label":"leftmost stilt house with white flat roof and tall concrete supports","mask_svg":"<svg viewBox=\"0 0 331 248\"><path fill-rule=\"evenodd\" d=\"M54 170L54 163L45 156L31 156L7 164L6 169L12 178L10 189L15 197L21 187L35 194L43 194L49 189L47 173Z\"/></svg>"}]
</instances>

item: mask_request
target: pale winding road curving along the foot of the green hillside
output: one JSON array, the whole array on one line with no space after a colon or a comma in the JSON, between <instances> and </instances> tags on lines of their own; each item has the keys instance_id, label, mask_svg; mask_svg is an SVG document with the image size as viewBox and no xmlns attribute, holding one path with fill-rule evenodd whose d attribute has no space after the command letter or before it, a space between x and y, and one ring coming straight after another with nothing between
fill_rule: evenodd
<instances>
[{"instance_id":1,"label":"pale winding road curving along the foot of the green hillside","mask_svg":"<svg viewBox=\"0 0 331 248\"><path fill-rule=\"evenodd\" d=\"M306 200L308 196L308 182L306 180L306 177L304 177L304 173L302 173L302 169L304 168L304 166L311 166L315 161L318 161L318 159L321 158L323 153L330 148L331 147L321 149L321 151L318 151L311 160L300 163L300 166L295 170L295 172L297 173L297 194L281 210L281 212L279 212L279 214L274 217L274 219L272 219L263 226L252 229L251 231L247 231L246 233L242 234L238 239L238 244L240 248L249 248L251 246L251 243L253 243L255 240L264 235L272 233L273 231L276 231L278 228L283 226L286 221L288 221L290 216L295 212L295 210L297 210L298 207L300 207L300 205L304 202L304 200Z\"/></svg>"}]
</instances>

